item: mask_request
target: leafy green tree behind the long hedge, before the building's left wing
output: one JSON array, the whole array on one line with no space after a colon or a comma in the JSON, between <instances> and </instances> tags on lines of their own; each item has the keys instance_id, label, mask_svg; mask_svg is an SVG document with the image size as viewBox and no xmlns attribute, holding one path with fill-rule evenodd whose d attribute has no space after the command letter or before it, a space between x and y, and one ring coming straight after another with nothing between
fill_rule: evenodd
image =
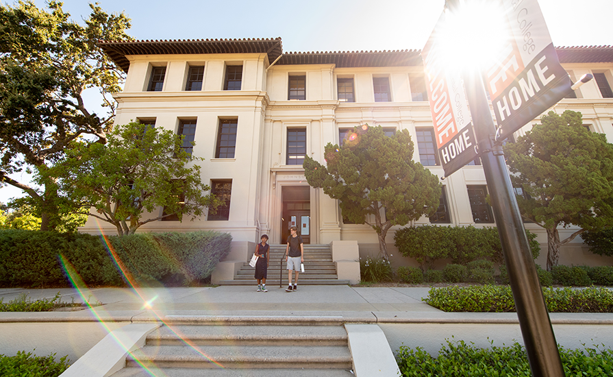
<instances>
[{"instance_id":1,"label":"leafy green tree behind the long hedge, before the building's left wing","mask_svg":"<svg viewBox=\"0 0 613 377\"><path fill-rule=\"evenodd\" d=\"M141 123L116 126L108 143L75 145L45 175L59 178L58 191L80 203L84 214L112 223L118 234L134 234L151 221L170 216L192 220L205 208L214 213L223 202L205 195L200 160L188 154L183 136ZM113 203L113 205L109 205ZM94 207L97 213L90 212ZM159 207L164 212L144 219Z\"/></svg>"}]
</instances>

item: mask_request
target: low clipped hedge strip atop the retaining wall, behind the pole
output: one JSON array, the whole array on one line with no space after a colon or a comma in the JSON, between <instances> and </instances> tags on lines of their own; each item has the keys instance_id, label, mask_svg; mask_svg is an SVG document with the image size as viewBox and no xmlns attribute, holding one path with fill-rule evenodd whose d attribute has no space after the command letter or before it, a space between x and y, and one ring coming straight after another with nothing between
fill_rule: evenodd
<instances>
[{"instance_id":1,"label":"low clipped hedge strip atop the retaining wall, behind the pole","mask_svg":"<svg viewBox=\"0 0 613 377\"><path fill-rule=\"evenodd\" d=\"M542 293L550 313L613 313L613 291L605 288L544 287ZM505 285L431 288L422 300L446 312L515 311L511 288Z\"/></svg>"}]
</instances>

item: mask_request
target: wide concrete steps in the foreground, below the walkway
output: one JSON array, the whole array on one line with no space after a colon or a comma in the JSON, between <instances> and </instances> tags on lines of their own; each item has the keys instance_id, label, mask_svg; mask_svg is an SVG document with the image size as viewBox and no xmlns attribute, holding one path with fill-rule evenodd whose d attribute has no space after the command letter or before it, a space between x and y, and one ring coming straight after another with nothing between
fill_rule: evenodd
<instances>
[{"instance_id":1,"label":"wide concrete steps in the foreground, below the walkway","mask_svg":"<svg viewBox=\"0 0 613 377\"><path fill-rule=\"evenodd\" d=\"M112 377L353 376L342 323L175 322L150 332Z\"/></svg>"}]
</instances>

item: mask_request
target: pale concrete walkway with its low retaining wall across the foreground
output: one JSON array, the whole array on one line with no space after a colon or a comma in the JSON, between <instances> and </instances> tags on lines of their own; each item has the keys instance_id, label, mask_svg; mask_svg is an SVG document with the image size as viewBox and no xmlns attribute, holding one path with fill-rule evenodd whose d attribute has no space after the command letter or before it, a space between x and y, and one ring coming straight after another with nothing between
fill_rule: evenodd
<instances>
[{"instance_id":1,"label":"pale concrete walkway with its low retaining wall across the foreground","mask_svg":"<svg viewBox=\"0 0 613 377\"><path fill-rule=\"evenodd\" d=\"M4 302L25 293L29 298L53 298L63 302L101 302L101 306L78 311L46 313L0 313L0 354L19 350L46 356L68 355L75 362L108 332L135 322L182 319L209 321L262 317L268 321L288 317L338 319L345 323L377 324L393 351L400 345L420 345L436 354L445 339L473 341L477 346L522 343L516 313L444 313L421 301L429 288L301 286L288 293L286 287L253 286L200 288L98 288L0 289ZM552 313L556 341L565 347L601 344L613 348L613 314Z\"/></svg>"}]
</instances>

